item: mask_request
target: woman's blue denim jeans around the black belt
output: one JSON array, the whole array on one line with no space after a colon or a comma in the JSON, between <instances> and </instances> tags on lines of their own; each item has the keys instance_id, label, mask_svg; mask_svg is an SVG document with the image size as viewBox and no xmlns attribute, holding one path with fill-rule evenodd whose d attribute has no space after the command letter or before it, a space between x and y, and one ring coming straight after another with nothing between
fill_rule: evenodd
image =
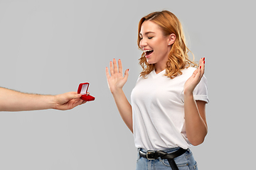
<instances>
[{"instance_id":1,"label":"woman's blue denim jeans around the black belt","mask_svg":"<svg viewBox=\"0 0 256 170\"><path fill-rule=\"evenodd\" d=\"M171 148L163 150L164 152L171 153L178 150L179 147ZM146 153L145 149L139 149L142 152ZM174 158L179 170L191 170L191 169L198 169L195 159L193 158L193 154L190 149L187 152L182 154L179 157ZM136 170L171 170L171 166L167 159L154 159L148 160L144 157L139 156L138 152L138 159L137 159L137 166Z\"/></svg>"}]
</instances>

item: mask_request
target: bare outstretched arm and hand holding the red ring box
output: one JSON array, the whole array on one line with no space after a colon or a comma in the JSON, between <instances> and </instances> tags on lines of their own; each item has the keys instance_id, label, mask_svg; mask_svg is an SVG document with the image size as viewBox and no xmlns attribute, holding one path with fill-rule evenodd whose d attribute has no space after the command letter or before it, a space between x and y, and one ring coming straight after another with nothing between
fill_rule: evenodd
<instances>
[{"instance_id":1,"label":"bare outstretched arm and hand holding the red ring box","mask_svg":"<svg viewBox=\"0 0 256 170\"><path fill-rule=\"evenodd\" d=\"M25 94L18 91L0 88L0 111L34 111L43 109L68 110L85 101L76 92L68 92L55 96L41 94Z\"/></svg>"}]
</instances>

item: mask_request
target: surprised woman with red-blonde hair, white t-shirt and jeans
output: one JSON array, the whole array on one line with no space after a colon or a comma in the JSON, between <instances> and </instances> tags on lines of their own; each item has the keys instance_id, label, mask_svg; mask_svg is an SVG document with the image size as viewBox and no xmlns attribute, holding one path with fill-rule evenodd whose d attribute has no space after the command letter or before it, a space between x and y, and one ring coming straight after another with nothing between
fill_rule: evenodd
<instances>
[{"instance_id":1,"label":"surprised woman with red-blonde hair, white t-shirt and jeans","mask_svg":"<svg viewBox=\"0 0 256 170\"><path fill-rule=\"evenodd\" d=\"M189 147L207 134L205 58L188 59L181 23L169 11L150 13L139 21L142 72L131 103L122 87L122 62L110 62L107 82L124 123L134 133L137 169L197 169ZM171 167L170 167L171 166Z\"/></svg>"}]
</instances>

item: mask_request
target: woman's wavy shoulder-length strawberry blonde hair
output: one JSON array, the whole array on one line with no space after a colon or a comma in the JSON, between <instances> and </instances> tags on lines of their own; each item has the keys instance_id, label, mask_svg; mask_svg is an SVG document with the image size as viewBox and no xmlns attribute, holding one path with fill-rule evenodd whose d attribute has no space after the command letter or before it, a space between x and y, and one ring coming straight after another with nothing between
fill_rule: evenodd
<instances>
[{"instance_id":1,"label":"woman's wavy shoulder-length strawberry blonde hair","mask_svg":"<svg viewBox=\"0 0 256 170\"><path fill-rule=\"evenodd\" d=\"M139 46L141 38L139 37L139 33L142 28L142 23L144 21L153 21L158 26L160 26L164 36L171 35L174 33L176 35L176 40L174 44L171 46L171 51L169 52L169 60L166 62L166 74L165 76L174 79L178 75L181 75L182 69L188 67L198 67L198 65L189 60L188 52L191 50L188 49L186 46L185 36L183 34L181 22L178 21L178 18L171 13L170 11L158 11L154 13L149 13L149 15L144 16L139 21L139 28L138 28L138 40L137 45L140 50L142 48ZM193 55L193 53L191 52ZM139 64L142 66L142 72L140 76L145 77L149 74L152 70L154 70L154 64L149 64L146 62L146 57L144 57L144 52L142 53L142 57L139 59ZM194 55L193 55L194 60Z\"/></svg>"}]
</instances>

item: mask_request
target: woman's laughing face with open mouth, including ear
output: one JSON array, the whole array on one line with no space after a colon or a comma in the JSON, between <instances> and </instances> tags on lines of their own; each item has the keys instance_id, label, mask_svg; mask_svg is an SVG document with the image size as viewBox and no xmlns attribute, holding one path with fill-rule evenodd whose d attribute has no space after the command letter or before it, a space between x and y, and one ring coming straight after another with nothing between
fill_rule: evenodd
<instances>
[{"instance_id":1,"label":"woman's laughing face with open mouth, including ear","mask_svg":"<svg viewBox=\"0 0 256 170\"><path fill-rule=\"evenodd\" d=\"M166 67L168 55L171 50L171 35L164 36L161 28L152 21L144 21L139 33L141 41L139 46L146 54L146 62ZM155 68L156 69L156 68Z\"/></svg>"}]
</instances>

